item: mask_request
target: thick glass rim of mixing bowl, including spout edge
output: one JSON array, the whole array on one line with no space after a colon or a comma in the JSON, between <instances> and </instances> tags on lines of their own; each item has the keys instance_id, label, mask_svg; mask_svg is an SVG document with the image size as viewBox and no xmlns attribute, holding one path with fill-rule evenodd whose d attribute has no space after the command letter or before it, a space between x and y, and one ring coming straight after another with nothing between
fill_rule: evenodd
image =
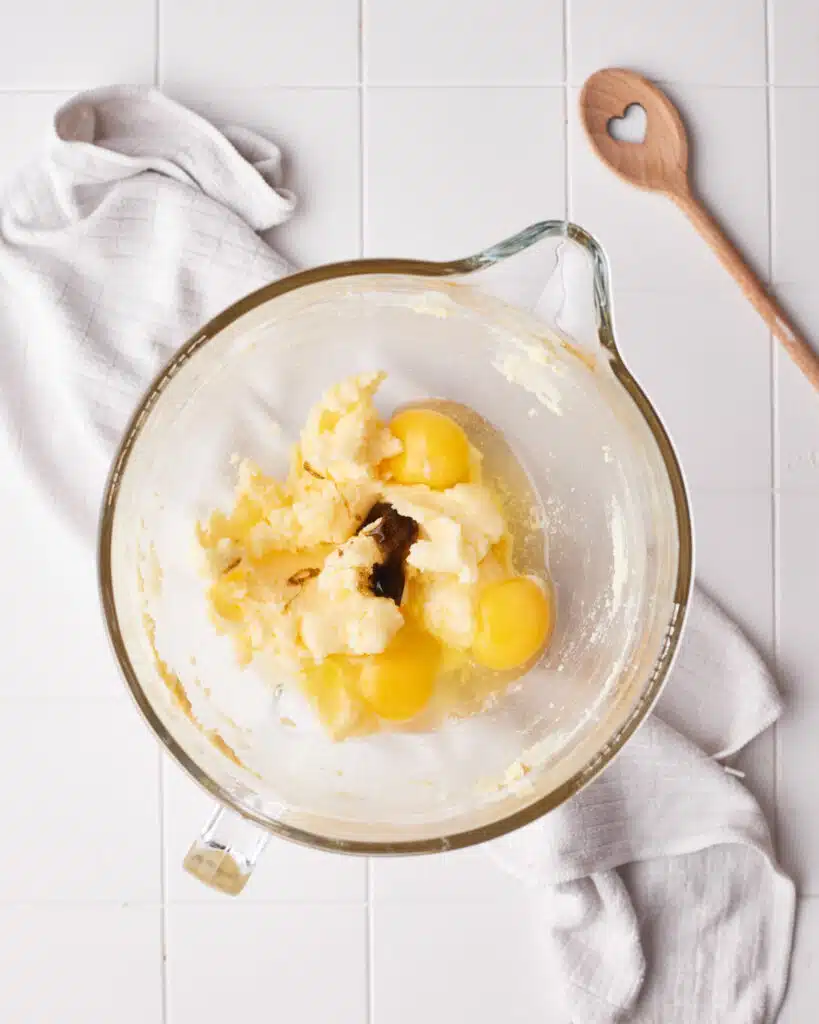
<instances>
[{"instance_id":1,"label":"thick glass rim of mixing bowl, including spout edge","mask_svg":"<svg viewBox=\"0 0 819 1024\"><path fill-rule=\"evenodd\" d=\"M679 557L677 580L674 586L671 618L665 639L656 659L650 679L628 719L613 736L586 765L555 790L544 794L526 806L504 814L481 825L419 840L364 841L322 836L296 827L281 820L273 820L258 813L232 797L220 783L204 771L181 743L166 728L147 699L136 670L128 654L114 597L112 541L118 498L122 480L134 446L154 407L165 388L180 369L213 338L241 316L258 306L286 295L288 292L309 285L339 278L365 274L402 274L419 278L461 276L491 266L509 256L521 252L544 238L567 238L581 246L591 260L594 274L594 302L597 315L598 338L610 357L611 369L620 385L630 394L654 438L662 459L677 515ZM163 370L158 374L139 401L123 434L114 457L102 498L97 536L97 583L100 603L109 640L117 658L120 673L142 718L163 743L176 763L215 798L224 808L253 821L264 831L279 836L303 846L316 849L363 855L437 853L474 846L497 839L523 825L529 824L578 793L596 778L616 757L626 742L645 721L654 707L674 665L688 612L693 586L694 540L690 503L682 467L671 437L654 407L627 368L614 340L609 288L608 263L599 243L584 228L566 221L541 221L529 225L517 234L495 246L464 259L438 262L417 259L359 259L329 263L307 270L288 274L239 299L202 327L182 344Z\"/></svg>"}]
</instances>

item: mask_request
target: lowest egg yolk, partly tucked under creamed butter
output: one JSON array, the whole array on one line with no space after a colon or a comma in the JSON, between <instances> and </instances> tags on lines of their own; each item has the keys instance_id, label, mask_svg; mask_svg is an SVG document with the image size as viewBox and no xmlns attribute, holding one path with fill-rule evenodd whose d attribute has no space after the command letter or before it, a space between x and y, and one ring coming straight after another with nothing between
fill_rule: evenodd
<instances>
[{"instance_id":1,"label":"lowest egg yolk, partly tucked under creamed butter","mask_svg":"<svg viewBox=\"0 0 819 1024\"><path fill-rule=\"evenodd\" d=\"M380 718L391 722L415 718L432 696L440 656L433 637L407 623L380 654L363 659L361 696Z\"/></svg>"}]
</instances>

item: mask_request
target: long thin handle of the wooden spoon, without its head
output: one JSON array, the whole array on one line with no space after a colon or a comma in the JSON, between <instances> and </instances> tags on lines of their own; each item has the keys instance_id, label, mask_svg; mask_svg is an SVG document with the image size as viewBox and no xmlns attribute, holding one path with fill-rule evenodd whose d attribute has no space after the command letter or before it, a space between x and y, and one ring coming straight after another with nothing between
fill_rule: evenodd
<instances>
[{"instance_id":1,"label":"long thin handle of the wooden spoon, without its head","mask_svg":"<svg viewBox=\"0 0 819 1024\"><path fill-rule=\"evenodd\" d=\"M760 279L740 256L733 243L729 241L705 207L688 190L673 191L671 198L717 254L720 262L742 289L745 297L766 322L771 332L781 341L790 358L819 391L819 353L811 347L788 321L785 312L768 294Z\"/></svg>"}]
</instances>

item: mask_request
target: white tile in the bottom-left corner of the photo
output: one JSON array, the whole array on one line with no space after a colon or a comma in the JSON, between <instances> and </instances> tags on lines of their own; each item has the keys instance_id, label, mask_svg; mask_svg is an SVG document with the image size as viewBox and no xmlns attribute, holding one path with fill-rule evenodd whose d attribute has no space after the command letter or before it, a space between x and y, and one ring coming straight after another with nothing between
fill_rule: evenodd
<instances>
[{"instance_id":1,"label":"white tile in the bottom-left corner of the photo","mask_svg":"<svg viewBox=\"0 0 819 1024\"><path fill-rule=\"evenodd\" d=\"M0 1020L162 1020L159 907L13 904L2 921Z\"/></svg>"}]
</instances>

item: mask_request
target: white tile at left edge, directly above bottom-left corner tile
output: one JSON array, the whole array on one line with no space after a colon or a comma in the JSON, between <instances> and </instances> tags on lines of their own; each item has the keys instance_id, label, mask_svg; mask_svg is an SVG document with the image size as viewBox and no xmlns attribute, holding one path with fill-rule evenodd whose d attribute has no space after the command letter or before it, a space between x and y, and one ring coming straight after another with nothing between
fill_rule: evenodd
<instances>
[{"instance_id":1,"label":"white tile at left edge, directly above bottom-left corner tile","mask_svg":"<svg viewBox=\"0 0 819 1024\"><path fill-rule=\"evenodd\" d=\"M158 765L119 701L0 700L0 901L159 900Z\"/></svg>"}]
</instances>

